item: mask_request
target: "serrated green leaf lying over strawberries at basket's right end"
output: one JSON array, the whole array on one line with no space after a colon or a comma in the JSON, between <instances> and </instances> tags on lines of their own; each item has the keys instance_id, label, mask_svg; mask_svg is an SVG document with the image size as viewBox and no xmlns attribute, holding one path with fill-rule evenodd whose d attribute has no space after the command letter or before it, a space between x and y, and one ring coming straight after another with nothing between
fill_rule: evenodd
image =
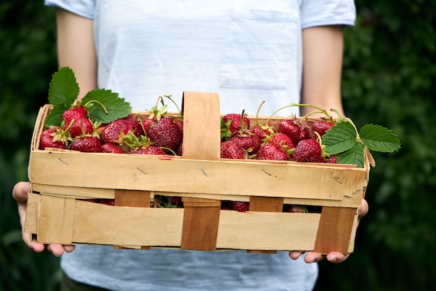
<instances>
[{"instance_id":1,"label":"serrated green leaf lying over strawberries at basket's right end","mask_svg":"<svg viewBox=\"0 0 436 291\"><path fill-rule=\"evenodd\" d=\"M325 152L329 155L339 154L355 147L357 133L349 121L336 123L322 136Z\"/></svg>"}]
</instances>

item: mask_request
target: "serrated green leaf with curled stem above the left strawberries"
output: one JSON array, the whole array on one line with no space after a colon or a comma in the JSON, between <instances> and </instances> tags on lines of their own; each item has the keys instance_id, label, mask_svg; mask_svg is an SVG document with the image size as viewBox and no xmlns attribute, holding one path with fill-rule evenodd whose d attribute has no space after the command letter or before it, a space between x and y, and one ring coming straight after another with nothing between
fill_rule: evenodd
<instances>
[{"instance_id":1,"label":"serrated green leaf with curled stem above the left strawberries","mask_svg":"<svg viewBox=\"0 0 436 291\"><path fill-rule=\"evenodd\" d=\"M118 97L118 93L107 89L88 91L80 103L88 107L93 121L100 121L103 124L127 117L132 112L130 103Z\"/></svg>"}]
</instances>

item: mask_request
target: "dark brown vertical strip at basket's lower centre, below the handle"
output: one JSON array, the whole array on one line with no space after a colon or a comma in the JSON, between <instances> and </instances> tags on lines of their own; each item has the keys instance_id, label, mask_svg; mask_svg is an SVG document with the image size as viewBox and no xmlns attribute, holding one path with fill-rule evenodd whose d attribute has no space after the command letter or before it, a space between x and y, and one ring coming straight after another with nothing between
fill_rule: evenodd
<instances>
[{"instance_id":1,"label":"dark brown vertical strip at basket's lower centre, below the handle","mask_svg":"<svg viewBox=\"0 0 436 291\"><path fill-rule=\"evenodd\" d=\"M180 248L215 251L219 225L220 200L183 197L183 226Z\"/></svg>"}]
</instances>

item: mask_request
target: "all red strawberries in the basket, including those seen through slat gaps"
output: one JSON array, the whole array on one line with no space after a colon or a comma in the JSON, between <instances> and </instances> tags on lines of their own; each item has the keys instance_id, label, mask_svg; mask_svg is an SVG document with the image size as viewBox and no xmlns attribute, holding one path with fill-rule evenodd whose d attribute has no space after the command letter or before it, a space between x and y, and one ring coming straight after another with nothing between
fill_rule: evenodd
<instances>
[{"instance_id":1,"label":"all red strawberries in the basket, including those seen through slat gaps","mask_svg":"<svg viewBox=\"0 0 436 291\"><path fill-rule=\"evenodd\" d=\"M164 107L166 108L166 107ZM50 126L40 135L40 149L70 149L86 153L182 155L183 121L153 107L148 118L128 114L109 124L94 122L88 108L77 105L65 110L61 126ZM221 158L336 163L322 150L322 135L334 123L319 119L311 126L306 119L283 119L278 126L255 124L242 114L221 117ZM114 200L88 200L113 205ZM183 207L181 197L162 196L152 207ZM223 201L221 209L248 211L249 202ZM306 212L306 207L284 205L286 212Z\"/></svg>"}]
</instances>

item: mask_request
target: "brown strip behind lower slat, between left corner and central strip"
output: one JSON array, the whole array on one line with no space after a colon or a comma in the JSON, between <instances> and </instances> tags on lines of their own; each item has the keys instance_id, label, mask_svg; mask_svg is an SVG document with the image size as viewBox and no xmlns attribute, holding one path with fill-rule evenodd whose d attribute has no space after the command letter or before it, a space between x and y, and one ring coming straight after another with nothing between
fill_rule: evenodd
<instances>
[{"instance_id":1,"label":"brown strip behind lower slat, between left corner and central strip","mask_svg":"<svg viewBox=\"0 0 436 291\"><path fill-rule=\"evenodd\" d=\"M150 191L115 190L115 206L150 207ZM139 248L135 246L114 246L116 249ZM141 250L149 250L150 246L141 246Z\"/></svg>"}]
</instances>

